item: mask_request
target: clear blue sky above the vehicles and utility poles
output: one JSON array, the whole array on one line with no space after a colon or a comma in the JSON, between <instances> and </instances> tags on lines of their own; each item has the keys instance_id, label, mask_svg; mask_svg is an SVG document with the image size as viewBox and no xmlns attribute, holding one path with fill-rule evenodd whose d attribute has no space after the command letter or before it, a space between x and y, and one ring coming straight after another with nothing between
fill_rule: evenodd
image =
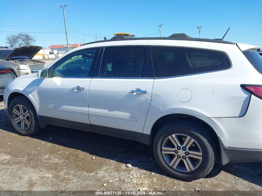
<instances>
[{"instance_id":1,"label":"clear blue sky above the vehicles and utility poles","mask_svg":"<svg viewBox=\"0 0 262 196\"><path fill-rule=\"evenodd\" d=\"M126 3L124 3L126 2ZM16 32L27 32L36 39L35 45L66 44L63 11L65 7L69 44L95 41L115 32L134 33L137 37L150 34L162 37L187 33L202 38L222 38L228 27L226 41L242 42L262 47L261 2L256 1L16 1L0 0L0 44ZM6 16L6 17L5 17ZM102 36L100 36L102 35Z\"/></svg>"}]
</instances>

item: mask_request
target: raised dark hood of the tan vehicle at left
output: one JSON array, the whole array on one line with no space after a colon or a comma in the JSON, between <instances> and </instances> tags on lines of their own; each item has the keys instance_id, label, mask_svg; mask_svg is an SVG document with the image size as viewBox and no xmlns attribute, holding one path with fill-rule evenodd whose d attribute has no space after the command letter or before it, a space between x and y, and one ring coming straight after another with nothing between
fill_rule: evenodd
<instances>
[{"instance_id":1,"label":"raised dark hood of the tan vehicle at left","mask_svg":"<svg viewBox=\"0 0 262 196\"><path fill-rule=\"evenodd\" d=\"M21 47L17 47L14 50L12 50L12 52L10 54L8 54L5 59L9 59L9 58L14 57L14 56L27 56L30 59L32 59L34 57L34 55L36 55L36 53L38 53L38 51L41 50L41 49L42 49L41 46L21 46Z\"/></svg>"}]
</instances>

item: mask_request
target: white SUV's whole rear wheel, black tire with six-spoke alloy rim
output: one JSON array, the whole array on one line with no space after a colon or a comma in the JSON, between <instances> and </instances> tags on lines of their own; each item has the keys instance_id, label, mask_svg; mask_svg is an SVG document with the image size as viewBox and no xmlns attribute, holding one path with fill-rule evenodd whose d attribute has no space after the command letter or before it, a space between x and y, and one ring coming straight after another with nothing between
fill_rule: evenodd
<instances>
[{"instance_id":1,"label":"white SUV's whole rear wheel, black tire with six-spoke alloy rim","mask_svg":"<svg viewBox=\"0 0 262 196\"><path fill-rule=\"evenodd\" d=\"M195 123L178 120L156 134L153 151L159 166L184 181L206 176L215 163L215 147L208 131Z\"/></svg>"}]
</instances>

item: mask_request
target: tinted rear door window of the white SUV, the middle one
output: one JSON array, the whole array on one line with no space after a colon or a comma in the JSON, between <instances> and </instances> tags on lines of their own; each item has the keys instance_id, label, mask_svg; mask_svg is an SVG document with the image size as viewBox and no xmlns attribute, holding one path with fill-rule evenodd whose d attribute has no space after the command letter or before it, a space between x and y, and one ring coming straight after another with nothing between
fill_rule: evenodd
<instances>
[{"instance_id":1,"label":"tinted rear door window of the white SUV, the middle one","mask_svg":"<svg viewBox=\"0 0 262 196\"><path fill-rule=\"evenodd\" d=\"M105 48L99 77L145 77L144 47Z\"/></svg>"}]
</instances>

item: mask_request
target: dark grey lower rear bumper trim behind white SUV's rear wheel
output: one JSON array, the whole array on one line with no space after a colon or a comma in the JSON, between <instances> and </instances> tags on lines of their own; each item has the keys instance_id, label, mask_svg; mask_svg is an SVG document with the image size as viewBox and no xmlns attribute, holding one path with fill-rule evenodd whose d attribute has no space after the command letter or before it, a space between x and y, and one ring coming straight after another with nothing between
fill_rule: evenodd
<instances>
[{"instance_id":1,"label":"dark grey lower rear bumper trim behind white SUV's rear wheel","mask_svg":"<svg viewBox=\"0 0 262 196\"><path fill-rule=\"evenodd\" d=\"M262 162L262 150L227 148L219 138L221 165L230 162Z\"/></svg>"}]
</instances>

